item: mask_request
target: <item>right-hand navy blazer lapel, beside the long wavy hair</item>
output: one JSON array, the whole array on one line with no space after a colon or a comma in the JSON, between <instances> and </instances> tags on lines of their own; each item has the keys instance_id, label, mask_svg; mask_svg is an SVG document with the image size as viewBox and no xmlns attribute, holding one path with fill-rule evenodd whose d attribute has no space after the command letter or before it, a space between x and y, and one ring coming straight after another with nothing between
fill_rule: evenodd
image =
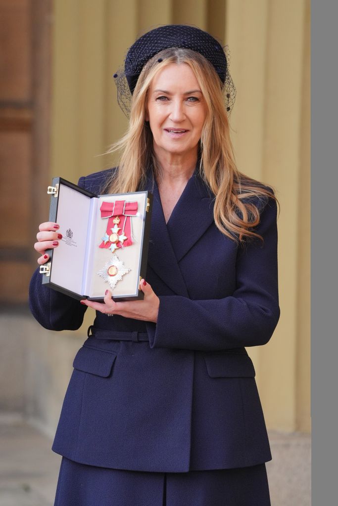
<instances>
[{"instance_id":1,"label":"right-hand navy blazer lapel, beside the long wavy hair","mask_svg":"<svg viewBox=\"0 0 338 506\"><path fill-rule=\"evenodd\" d=\"M214 223L213 206L214 198L196 168L167 223L177 262Z\"/></svg>"}]
</instances>

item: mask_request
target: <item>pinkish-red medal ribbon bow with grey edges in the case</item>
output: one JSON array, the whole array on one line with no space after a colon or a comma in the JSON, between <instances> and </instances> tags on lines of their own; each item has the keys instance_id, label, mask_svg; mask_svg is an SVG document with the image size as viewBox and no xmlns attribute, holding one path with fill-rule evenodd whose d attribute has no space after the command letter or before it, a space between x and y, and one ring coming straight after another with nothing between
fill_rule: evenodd
<instances>
[{"instance_id":1,"label":"pinkish-red medal ribbon bow with grey edges in the case","mask_svg":"<svg viewBox=\"0 0 338 506\"><path fill-rule=\"evenodd\" d=\"M117 247L121 248L124 246L130 246L133 244L133 236L131 231L131 217L137 214L137 202L126 202L125 200L116 200L115 202L102 202L100 211L101 218L108 218L106 234L111 235L111 229L114 228L114 218L117 216L120 218L118 227L120 228L119 235L124 234L127 239L124 240L123 244L119 241ZM110 241L104 243L101 242L100 248L109 248L111 245Z\"/></svg>"}]
</instances>

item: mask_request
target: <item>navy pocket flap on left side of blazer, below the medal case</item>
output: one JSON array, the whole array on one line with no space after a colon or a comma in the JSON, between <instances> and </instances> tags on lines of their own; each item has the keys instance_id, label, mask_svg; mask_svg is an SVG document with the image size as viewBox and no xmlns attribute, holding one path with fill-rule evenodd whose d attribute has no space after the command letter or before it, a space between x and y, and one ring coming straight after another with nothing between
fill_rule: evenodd
<instances>
[{"instance_id":1,"label":"navy pocket flap on left side of blazer, below the medal case","mask_svg":"<svg viewBox=\"0 0 338 506\"><path fill-rule=\"evenodd\" d=\"M80 371L107 377L111 372L115 359L115 353L83 346L74 358L73 367Z\"/></svg>"}]
</instances>

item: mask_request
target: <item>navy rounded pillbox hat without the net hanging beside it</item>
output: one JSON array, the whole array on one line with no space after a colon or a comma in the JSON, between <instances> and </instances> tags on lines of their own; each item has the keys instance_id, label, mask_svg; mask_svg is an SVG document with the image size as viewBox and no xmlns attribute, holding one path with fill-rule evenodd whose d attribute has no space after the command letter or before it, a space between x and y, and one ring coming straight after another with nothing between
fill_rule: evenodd
<instances>
[{"instance_id":1,"label":"navy rounded pillbox hat without the net hanging beside it","mask_svg":"<svg viewBox=\"0 0 338 506\"><path fill-rule=\"evenodd\" d=\"M148 31L129 48L125 75L133 93L142 68L164 49L186 48L200 53L215 68L222 84L227 78L227 57L219 42L209 33L189 25L164 25Z\"/></svg>"}]
</instances>

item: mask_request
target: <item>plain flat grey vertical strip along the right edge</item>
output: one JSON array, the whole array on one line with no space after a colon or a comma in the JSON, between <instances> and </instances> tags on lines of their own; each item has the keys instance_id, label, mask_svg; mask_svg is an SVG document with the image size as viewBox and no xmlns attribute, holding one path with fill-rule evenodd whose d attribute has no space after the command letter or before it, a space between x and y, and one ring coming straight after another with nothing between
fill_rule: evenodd
<instances>
[{"instance_id":1,"label":"plain flat grey vertical strip along the right edge","mask_svg":"<svg viewBox=\"0 0 338 506\"><path fill-rule=\"evenodd\" d=\"M312 2L312 504L337 503L336 0Z\"/></svg>"}]
</instances>

